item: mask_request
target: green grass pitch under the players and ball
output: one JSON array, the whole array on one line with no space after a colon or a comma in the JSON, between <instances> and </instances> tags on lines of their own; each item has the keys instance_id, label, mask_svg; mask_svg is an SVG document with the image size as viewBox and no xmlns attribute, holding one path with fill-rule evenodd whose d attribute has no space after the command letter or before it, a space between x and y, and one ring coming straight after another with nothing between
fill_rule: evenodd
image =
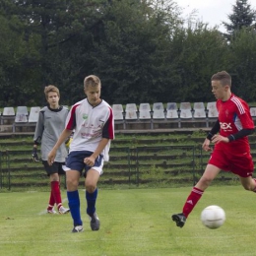
<instances>
[{"instance_id":1,"label":"green grass pitch under the players and ball","mask_svg":"<svg viewBox=\"0 0 256 256\"><path fill-rule=\"evenodd\" d=\"M256 255L256 195L241 186L210 187L183 228L179 213L191 187L104 190L99 188L101 226L92 231L80 190L85 231L71 233L69 215L47 215L48 192L0 193L0 255L4 256L224 256ZM62 192L64 206L66 193ZM209 205L224 208L226 222L208 229L200 221Z\"/></svg>"}]
</instances>

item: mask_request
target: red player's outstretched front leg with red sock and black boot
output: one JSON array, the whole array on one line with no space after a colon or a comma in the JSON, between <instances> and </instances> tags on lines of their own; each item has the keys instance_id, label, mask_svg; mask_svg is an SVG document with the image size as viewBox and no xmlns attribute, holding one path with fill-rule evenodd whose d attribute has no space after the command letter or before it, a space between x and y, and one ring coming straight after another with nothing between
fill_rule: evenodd
<instances>
[{"instance_id":1,"label":"red player's outstretched front leg with red sock and black boot","mask_svg":"<svg viewBox=\"0 0 256 256\"><path fill-rule=\"evenodd\" d=\"M192 191L187 197L187 200L183 206L182 213L172 215L172 221L175 222L177 226L182 227L185 224L189 214L193 211L194 207L202 197L204 191L208 188L208 186L211 184L214 178L218 175L220 170L221 169L219 167L213 164L207 164L202 177L197 182L197 184L192 188Z\"/></svg>"}]
</instances>

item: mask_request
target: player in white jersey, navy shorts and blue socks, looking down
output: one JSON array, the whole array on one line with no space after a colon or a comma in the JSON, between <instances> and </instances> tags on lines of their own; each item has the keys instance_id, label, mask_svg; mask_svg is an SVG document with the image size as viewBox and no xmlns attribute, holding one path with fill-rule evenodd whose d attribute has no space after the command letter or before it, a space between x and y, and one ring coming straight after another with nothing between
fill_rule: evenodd
<instances>
[{"instance_id":1,"label":"player in white jersey, navy shorts and blue socks, looking down","mask_svg":"<svg viewBox=\"0 0 256 256\"><path fill-rule=\"evenodd\" d=\"M72 232L81 232L84 229L78 192L79 179L84 170L87 214L92 230L99 229L96 184L102 173L104 160L109 159L110 141L114 139L113 112L110 105L100 98L100 90L99 78L95 75L85 78L84 91L87 97L72 106L66 120L66 128L48 154L48 163L51 164L57 149L74 130L66 161L69 168L66 171L67 196L74 224Z\"/></svg>"}]
</instances>

